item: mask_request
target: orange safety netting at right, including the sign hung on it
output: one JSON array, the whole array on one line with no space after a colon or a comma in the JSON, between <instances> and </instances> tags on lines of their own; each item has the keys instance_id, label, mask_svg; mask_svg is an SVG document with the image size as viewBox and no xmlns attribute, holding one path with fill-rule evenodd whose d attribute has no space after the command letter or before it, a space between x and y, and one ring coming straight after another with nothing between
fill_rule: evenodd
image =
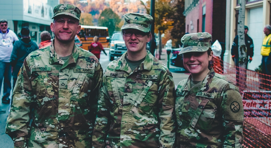
<instances>
[{"instance_id":1,"label":"orange safety netting at right, including the sign hung on it","mask_svg":"<svg viewBox=\"0 0 271 148\"><path fill-rule=\"evenodd\" d=\"M271 76L235 67L219 57L213 57L211 65L216 73L225 75L239 87L245 118L243 146L270 148Z\"/></svg>"}]
</instances>

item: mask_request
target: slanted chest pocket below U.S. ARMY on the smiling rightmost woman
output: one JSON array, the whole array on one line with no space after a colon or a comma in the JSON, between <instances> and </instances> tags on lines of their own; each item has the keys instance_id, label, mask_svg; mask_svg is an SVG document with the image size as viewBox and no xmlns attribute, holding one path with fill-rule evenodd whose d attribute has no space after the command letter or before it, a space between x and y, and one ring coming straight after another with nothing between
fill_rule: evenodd
<instances>
[{"instance_id":1,"label":"slanted chest pocket below U.S. ARMY on the smiling rightmost woman","mask_svg":"<svg viewBox=\"0 0 271 148\"><path fill-rule=\"evenodd\" d=\"M203 106L201 110L197 110L198 112L195 113L194 117L198 118L195 124L195 128L208 131L214 120L217 111L217 106L214 103L208 101L207 99L204 99L202 102L203 102L202 105L204 105L205 103L206 104ZM196 114L199 114L199 116L197 116Z\"/></svg>"}]
</instances>

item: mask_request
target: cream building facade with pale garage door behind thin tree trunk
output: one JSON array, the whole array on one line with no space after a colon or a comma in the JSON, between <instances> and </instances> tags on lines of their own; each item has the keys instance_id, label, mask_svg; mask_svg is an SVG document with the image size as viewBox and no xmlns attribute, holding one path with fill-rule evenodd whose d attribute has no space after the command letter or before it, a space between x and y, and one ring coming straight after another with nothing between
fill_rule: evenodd
<instances>
[{"instance_id":1,"label":"cream building facade with pale garage door behind thin tree trunk","mask_svg":"<svg viewBox=\"0 0 271 148\"><path fill-rule=\"evenodd\" d=\"M231 46L234 37L237 35L237 24L239 14L239 0L226 0L226 52L227 57L224 61L234 65L231 59ZM245 25L248 26L248 35L254 43L254 56L251 63L248 64L249 70L255 70L261 64L261 46L264 38L263 29L265 25L270 24L270 2L271 0L246 0Z\"/></svg>"}]
</instances>

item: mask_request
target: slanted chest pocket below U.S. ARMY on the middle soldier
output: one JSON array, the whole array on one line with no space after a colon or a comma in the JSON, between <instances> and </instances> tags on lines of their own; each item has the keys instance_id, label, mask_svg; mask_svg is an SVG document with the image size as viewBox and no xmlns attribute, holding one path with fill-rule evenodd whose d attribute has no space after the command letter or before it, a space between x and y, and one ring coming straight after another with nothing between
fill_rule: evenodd
<instances>
[{"instance_id":1,"label":"slanted chest pocket below U.S. ARMY on the middle soldier","mask_svg":"<svg viewBox=\"0 0 271 148\"><path fill-rule=\"evenodd\" d=\"M157 85L148 80L133 102L134 106L146 114L150 114L157 101Z\"/></svg>"}]
</instances>

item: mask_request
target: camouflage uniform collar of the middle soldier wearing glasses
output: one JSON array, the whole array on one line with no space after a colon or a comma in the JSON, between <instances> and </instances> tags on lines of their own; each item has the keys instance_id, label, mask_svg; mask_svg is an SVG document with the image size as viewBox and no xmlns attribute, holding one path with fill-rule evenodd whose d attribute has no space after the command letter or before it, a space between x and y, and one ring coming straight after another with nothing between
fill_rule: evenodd
<instances>
[{"instance_id":1,"label":"camouflage uniform collar of the middle soldier wearing glasses","mask_svg":"<svg viewBox=\"0 0 271 148\"><path fill-rule=\"evenodd\" d=\"M133 72L125 59L126 55L127 55L127 52L122 54L122 56L117 60L117 65L115 66L115 70L124 70L124 71L127 71L129 74L132 74L133 72L141 71L141 70L151 70L153 66L154 56L149 51L147 51L146 58L141 63L141 65L139 65L139 68L136 68Z\"/></svg>"}]
</instances>

